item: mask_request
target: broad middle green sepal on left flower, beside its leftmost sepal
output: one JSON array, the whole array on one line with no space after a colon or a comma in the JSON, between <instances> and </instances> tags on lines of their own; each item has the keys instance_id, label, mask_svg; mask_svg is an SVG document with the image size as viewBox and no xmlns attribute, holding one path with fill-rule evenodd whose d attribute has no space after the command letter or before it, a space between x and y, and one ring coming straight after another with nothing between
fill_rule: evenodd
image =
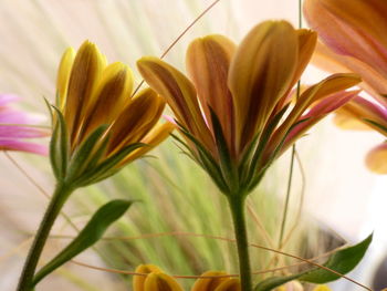
<instances>
[{"instance_id":1,"label":"broad middle green sepal on left flower, beside its leftmost sepal","mask_svg":"<svg viewBox=\"0 0 387 291\"><path fill-rule=\"evenodd\" d=\"M93 162L93 159L91 158L92 155L98 152L96 148L97 144L104 144L101 137L106 132L106 124L98 126L73 153L66 173L66 179L69 181L76 180L79 177L82 176L83 172L85 172L87 168L91 168L88 163Z\"/></svg>"}]
</instances>

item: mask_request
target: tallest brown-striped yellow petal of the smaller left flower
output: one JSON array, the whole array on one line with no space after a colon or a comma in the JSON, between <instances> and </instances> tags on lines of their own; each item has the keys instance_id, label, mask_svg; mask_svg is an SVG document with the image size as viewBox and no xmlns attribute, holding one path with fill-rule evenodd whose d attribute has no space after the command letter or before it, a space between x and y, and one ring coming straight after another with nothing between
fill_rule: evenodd
<instances>
[{"instance_id":1,"label":"tallest brown-striped yellow petal of the smaller left flower","mask_svg":"<svg viewBox=\"0 0 387 291\"><path fill-rule=\"evenodd\" d=\"M79 49L69 80L64 116L71 134L72 145L77 143L84 113L93 90L102 74L105 61L95 44L85 41Z\"/></svg>"}]
</instances>

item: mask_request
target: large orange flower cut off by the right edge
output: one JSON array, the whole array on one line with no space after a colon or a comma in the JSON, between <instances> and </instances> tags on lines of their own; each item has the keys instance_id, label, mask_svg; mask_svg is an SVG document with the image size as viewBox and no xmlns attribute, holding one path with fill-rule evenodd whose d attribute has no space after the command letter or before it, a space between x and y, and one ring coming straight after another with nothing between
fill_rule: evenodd
<instances>
[{"instance_id":1,"label":"large orange flower cut off by the right edge","mask_svg":"<svg viewBox=\"0 0 387 291\"><path fill-rule=\"evenodd\" d=\"M336 124L364 128L359 122L387 136L387 2L383 0L306 0L305 17L320 33L314 62L330 72L358 73L367 97L356 97L337 113ZM356 118L358 122L354 122ZM369 169L387 174L383 143L366 158Z\"/></svg>"}]
</instances>

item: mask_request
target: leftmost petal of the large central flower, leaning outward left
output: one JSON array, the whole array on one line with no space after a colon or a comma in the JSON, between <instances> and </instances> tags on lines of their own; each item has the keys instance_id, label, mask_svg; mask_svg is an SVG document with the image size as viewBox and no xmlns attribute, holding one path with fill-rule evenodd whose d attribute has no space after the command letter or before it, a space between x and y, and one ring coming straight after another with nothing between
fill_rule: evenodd
<instances>
[{"instance_id":1,"label":"leftmost petal of the large central flower, leaning outward left","mask_svg":"<svg viewBox=\"0 0 387 291\"><path fill-rule=\"evenodd\" d=\"M137 66L149 86L166 98L177 119L210 152L216 153L211 132L206 125L191 82L157 58L143 58Z\"/></svg>"}]
</instances>

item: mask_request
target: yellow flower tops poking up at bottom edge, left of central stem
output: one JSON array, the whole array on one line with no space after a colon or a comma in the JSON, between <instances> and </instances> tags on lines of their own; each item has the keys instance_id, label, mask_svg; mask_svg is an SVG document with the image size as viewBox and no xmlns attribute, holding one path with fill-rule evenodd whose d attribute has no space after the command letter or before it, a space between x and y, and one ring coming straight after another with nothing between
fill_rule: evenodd
<instances>
[{"instance_id":1,"label":"yellow flower tops poking up at bottom edge, left of central stem","mask_svg":"<svg viewBox=\"0 0 387 291\"><path fill-rule=\"evenodd\" d=\"M170 276L164 273L153 264L140 264L136 273L147 274L135 276L133 279L133 291L182 291L182 287ZM238 279L226 277L227 273L208 271L201 274L194 283L191 291L240 291Z\"/></svg>"}]
</instances>

